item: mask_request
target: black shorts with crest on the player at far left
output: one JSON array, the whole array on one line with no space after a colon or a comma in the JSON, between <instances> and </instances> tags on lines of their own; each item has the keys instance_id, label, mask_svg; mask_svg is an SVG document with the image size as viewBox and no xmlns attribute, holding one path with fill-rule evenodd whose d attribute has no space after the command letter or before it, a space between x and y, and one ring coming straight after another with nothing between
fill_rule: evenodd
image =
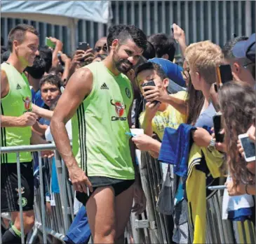
<instances>
[{"instance_id":1,"label":"black shorts with crest on the player at far left","mask_svg":"<svg viewBox=\"0 0 256 244\"><path fill-rule=\"evenodd\" d=\"M34 176L32 162L20 163L22 210L33 210ZM1 212L20 211L17 164L1 164Z\"/></svg>"}]
</instances>

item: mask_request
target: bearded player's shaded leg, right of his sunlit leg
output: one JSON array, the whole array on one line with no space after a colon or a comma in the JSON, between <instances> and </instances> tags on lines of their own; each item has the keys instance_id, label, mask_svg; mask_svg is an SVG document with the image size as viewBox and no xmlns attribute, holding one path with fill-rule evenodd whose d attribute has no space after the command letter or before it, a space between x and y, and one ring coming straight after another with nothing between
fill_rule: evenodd
<instances>
[{"instance_id":1,"label":"bearded player's shaded leg, right of his sunlit leg","mask_svg":"<svg viewBox=\"0 0 256 244\"><path fill-rule=\"evenodd\" d=\"M115 243L124 243L124 231L133 207L133 185L122 192L115 199L116 212L116 238Z\"/></svg>"}]
</instances>

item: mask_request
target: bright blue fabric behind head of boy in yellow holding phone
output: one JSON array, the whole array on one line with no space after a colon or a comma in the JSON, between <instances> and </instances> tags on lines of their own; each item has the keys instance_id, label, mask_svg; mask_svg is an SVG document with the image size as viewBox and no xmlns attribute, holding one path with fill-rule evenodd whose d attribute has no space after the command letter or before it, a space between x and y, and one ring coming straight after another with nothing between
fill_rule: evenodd
<instances>
[{"instance_id":1,"label":"bright blue fabric behind head of boy in yellow holding phone","mask_svg":"<svg viewBox=\"0 0 256 244\"><path fill-rule=\"evenodd\" d=\"M181 87L186 87L186 82L182 77L182 67L170 62L168 59L162 59L160 57L154 57L154 59L149 59L149 62L159 64L163 71L166 73L166 76L170 80L173 80L177 85Z\"/></svg>"}]
</instances>

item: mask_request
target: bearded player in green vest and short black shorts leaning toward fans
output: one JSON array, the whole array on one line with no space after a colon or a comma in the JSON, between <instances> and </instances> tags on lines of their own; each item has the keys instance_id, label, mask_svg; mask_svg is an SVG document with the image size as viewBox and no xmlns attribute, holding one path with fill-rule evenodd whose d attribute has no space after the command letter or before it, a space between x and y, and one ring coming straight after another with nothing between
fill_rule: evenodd
<instances>
[{"instance_id":1,"label":"bearded player in green vest and short black shorts leaning toward fans","mask_svg":"<svg viewBox=\"0 0 256 244\"><path fill-rule=\"evenodd\" d=\"M147 37L127 26L113 40L104 61L70 78L50 124L76 198L86 206L94 243L123 243L133 197L137 214L146 206L137 182L135 150L126 135L133 88L123 73L137 64ZM65 129L71 118L73 152Z\"/></svg>"}]
</instances>

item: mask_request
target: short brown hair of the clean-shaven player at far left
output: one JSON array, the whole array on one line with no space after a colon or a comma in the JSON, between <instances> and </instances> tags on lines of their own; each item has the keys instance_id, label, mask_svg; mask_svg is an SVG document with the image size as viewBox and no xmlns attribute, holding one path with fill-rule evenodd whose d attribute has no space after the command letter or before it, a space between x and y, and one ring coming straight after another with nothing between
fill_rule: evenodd
<instances>
[{"instance_id":1,"label":"short brown hair of the clean-shaven player at far left","mask_svg":"<svg viewBox=\"0 0 256 244\"><path fill-rule=\"evenodd\" d=\"M12 52L13 51L13 41L17 40L18 42L22 43L25 38L25 34L27 32L31 32L36 36L39 36L39 33L29 24L18 24L16 27L11 29L8 34L8 48Z\"/></svg>"}]
</instances>

